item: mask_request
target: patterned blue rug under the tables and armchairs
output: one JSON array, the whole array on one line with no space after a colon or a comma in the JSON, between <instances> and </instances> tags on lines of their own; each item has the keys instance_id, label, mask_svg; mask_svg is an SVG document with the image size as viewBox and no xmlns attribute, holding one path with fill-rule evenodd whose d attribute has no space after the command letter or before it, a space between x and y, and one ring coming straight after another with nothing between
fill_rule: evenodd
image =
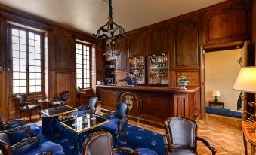
<instances>
[{"instance_id":1,"label":"patterned blue rug under the tables and armchairs","mask_svg":"<svg viewBox=\"0 0 256 155\"><path fill-rule=\"evenodd\" d=\"M97 130L97 129L96 129ZM83 139L80 138L79 140L79 150L76 147L74 153L72 153L72 148L75 143L75 134L68 129L61 128L59 132L56 134L57 136L53 138L52 136L46 136L41 134L41 142L44 143L45 141L53 141L54 143L60 144L63 147L63 150L66 155L72 154L79 154L82 151L82 143ZM86 139L86 136L84 136ZM114 144L114 140L113 140ZM155 150L156 153L159 155L164 155L165 147L163 143L163 136L156 133L150 132L147 129L141 129L137 126L128 125L127 130L127 139L119 137L118 140L118 147L131 147L133 149L136 148L150 148Z\"/></svg>"}]
</instances>

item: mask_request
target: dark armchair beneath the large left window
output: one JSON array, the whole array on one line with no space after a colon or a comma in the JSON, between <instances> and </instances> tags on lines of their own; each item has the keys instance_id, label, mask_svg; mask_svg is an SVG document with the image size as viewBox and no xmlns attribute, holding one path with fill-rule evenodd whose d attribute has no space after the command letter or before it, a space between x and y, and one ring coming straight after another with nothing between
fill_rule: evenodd
<instances>
[{"instance_id":1,"label":"dark armchair beneath the large left window","mask_svg":"<svg viewBox=\"0 0 256 155\"><path fill-rule=\"evenodd\" d=\"M27 97L25 95L17 95L16 99L19 103L19 107L20 107L20 117L22 112L26 112L26 117L28 117L29 115L29 120L31 122L31 113L34 110L39 109L39 111L41 110L41 106L37 104L37 100L38 99L27 99ZM29 102L36 102L36 104L29 104ZM40 114L39 114L40 115Z\"/></svg>"}]
</instances>

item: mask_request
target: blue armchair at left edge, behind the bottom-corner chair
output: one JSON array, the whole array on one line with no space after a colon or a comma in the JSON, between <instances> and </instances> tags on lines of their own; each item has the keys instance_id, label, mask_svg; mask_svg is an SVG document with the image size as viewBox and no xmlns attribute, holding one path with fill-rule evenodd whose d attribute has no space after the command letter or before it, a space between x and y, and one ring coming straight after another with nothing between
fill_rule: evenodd
<instances>
[{"instance_id":1,"label":"blue armchair at left edge, behind the bottom-corner chair","mask_svg":"<svg viewBox=\"0 0 256 155\"><path fill-rule=\"evenodd\" d=\"M39 132L40 132L39 125L35 123L25 124L23 119L14 119L14 120L9 120L6 123L3 123L2 114L0 114L0 131L10 130L10 129L14 129L21 126L30 126L30 131L32 135L35 135L35 136L39 135Z\"/></svg>"}]
</instances>

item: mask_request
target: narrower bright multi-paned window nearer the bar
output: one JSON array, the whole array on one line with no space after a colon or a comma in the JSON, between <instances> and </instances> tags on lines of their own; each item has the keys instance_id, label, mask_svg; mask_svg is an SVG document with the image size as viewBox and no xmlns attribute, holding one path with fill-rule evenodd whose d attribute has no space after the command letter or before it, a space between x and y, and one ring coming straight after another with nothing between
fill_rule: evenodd
<instances>
[{"instance_id":1,"label":"narrower bright multi-paned window nearer the bar","mask_svg":"<svg viewBox=\"0 0 256 155\"><path fill-rule=\"evenodd\" d=\"M87 44L76 44L76 86L80 88L91 87L90 51Z\"/></svg>"}]
</instances>

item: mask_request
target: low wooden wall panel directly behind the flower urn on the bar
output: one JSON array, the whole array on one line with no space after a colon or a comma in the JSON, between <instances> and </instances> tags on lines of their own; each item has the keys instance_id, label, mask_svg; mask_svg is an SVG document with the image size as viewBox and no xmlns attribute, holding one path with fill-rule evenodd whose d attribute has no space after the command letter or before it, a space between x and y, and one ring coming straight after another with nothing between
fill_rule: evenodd
<instances>
[{"instance_id":1,"label":"low wooden wall panel directly behind the flower urn on the bar","mask_svg":"<svg viewBox=\"0 0 256 155\"><path fill-rule=\"evenodd\" d=\"M176 81L176 86L178 86L177 79L180 78L180 76L185 76L190 79L190 82L188 83L188 86L200 86L199 78L200 74L199 71L175 71L174 72L174 80Z\"/></svg>"}]
</instances>

